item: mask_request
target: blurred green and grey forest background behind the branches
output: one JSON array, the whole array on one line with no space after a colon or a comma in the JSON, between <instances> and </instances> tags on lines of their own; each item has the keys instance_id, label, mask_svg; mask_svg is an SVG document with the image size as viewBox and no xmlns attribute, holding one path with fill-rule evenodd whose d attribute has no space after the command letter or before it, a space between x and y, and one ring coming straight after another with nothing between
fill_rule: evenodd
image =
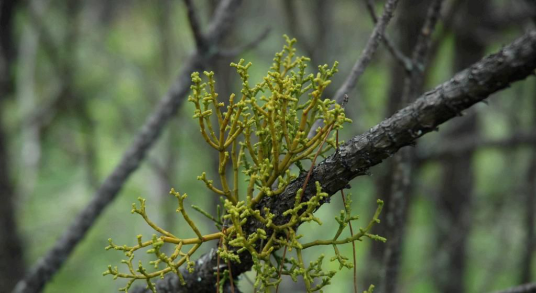
<instances>
[{"instance_id":1,"label":"blurred green and grey forest background behind the branches","mask_svg":"<svg viewBox=\"0 0 536 293\"><path fill-rule=\"evenodd\" d=\"M193 2L205 28L219 1ZM381 14L384 1L368 2ZM431 2L402 0L397 7L387 35L406 56ZM444 1L419 93L533 28L531 2ZM240 89L230 62L251 61L257 81L288 34L313 64L340 62L329 97L374 27L366 4L243 1L221 41L227 51L205 68L216 72L220 97L227 97ZM0 292L11 291L71 225L174 83L196 46L187 13L183 1L171 0L0 1ZM354 122L341 132L342 140L401 107L404 74L401 62L381 44L349 93L346 111ZM535 80L495 96L411 148L415 168L402 217L397 292L489 292L536 279ZM135 243L137 234L152 235L141 217L130 214L139 196L147 199L153 220L181 235L191 231L177 221L171 187L187 192L190 204L215 210L217 199L196 176L216 172L217 154L199 135L192 115L193 106L183 102L44 292L114 292L124 286L102 277L109 264L118 265L123 257L104 247L110 237ZM390 159L352 182L353 210L364 219L377 198L389 201L392 168ZM300 232L330 235L333 216L341 209L340 197L333 197L318 211L325 224ZM385 210L381 218L392 212ZM199 214L193 217L204 231L214 229ZM389 239L385 227L382 222L373 232ZM210 247L202 247L199 255ZM360 287L381 283L385 247L357 243ZM331 247L322 249L331 255ZM343 249L350 257L351 246ZM239 284L249 292L246 278ZM301 281L285 282L283 292L291 288L303 290ZM345 269L327 291L351 288L352 271Z\"/></svg>"}]
</instances>

